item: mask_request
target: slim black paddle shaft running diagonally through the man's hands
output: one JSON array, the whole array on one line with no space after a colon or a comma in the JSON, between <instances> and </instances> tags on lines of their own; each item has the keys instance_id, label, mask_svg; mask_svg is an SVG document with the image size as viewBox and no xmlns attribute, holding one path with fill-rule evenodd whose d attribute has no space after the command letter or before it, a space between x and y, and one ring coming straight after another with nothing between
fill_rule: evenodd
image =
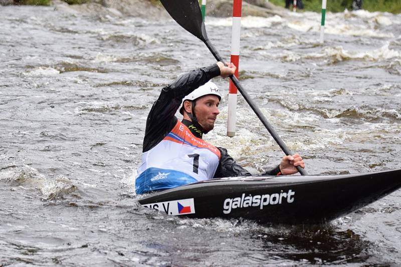
<instances>
[{"instance_id":1,"label":"slim black paddle shaft running diagonally through the man's hands","mask_svg":"<svg viewBox=\"0 0 401 267\"><path fill-rule=\"evenodd\" d=\"M204 43L209 48L210 52L212 52L212 54L216 58L216 60L225 64L223 61L223 58L220 56L219 52L215 49L215 47L212 45L212 43L209 41L209 39L205 40ZM230 77L231 81L233 81L234 85L237 87L238 91L240 91L240 93L244 97L245 101L247 101L248 105L255 112L256 116L258 116L258 118L260 119L262 124L266 127L266 129L272 135L273 139L277 142L277 144L279 145L281 150L283 150L283 152L287 156L293 155L293 153L288 149L288 147L283 142L283 140L281 140L280 136L278 135L276 130L273 128L273 126L267 121L266 117L262 114L260 109L254 104L252 99L249 97L247 91L245 91L245 89L240 84L240 81L237 79L237 77L235 77L234 75L231 75L229 77ZM301 175L307 175L306 171L303 168L301 168L300 166L297 166L296 168Z\"/></svg>"}]
</instances>

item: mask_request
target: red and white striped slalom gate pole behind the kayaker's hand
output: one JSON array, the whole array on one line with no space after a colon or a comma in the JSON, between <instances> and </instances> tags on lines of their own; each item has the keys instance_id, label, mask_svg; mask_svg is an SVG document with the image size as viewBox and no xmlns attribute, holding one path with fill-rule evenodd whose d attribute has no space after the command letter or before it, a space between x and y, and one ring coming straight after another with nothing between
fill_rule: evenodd
<instances>
[{"instance_id":1,"label":"red and white striped slalom gate pole behind the kayaker's hand","mask_svg":"<svg viewBox=\"0 0 401 267\"><path fill-rule=\"evenodd\" d=\"M241 37L241 10L242 0L234 0L233 5L233 28L231 33L231 62L237 67L235 76L238 78L240 63L240 37ZM237 120L237 87L230 80L229 88L229 108L227 121L227 136L235 136Z\"/></svg>"}]
</instances>

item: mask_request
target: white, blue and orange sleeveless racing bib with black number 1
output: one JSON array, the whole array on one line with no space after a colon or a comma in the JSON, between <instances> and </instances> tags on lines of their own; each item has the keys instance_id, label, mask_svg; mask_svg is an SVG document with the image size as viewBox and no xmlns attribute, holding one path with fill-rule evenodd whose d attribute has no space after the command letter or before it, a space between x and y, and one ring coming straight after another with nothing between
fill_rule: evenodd
<instances>
[{"instance_id":1,"label":"white, blue and orange sleeveless racing bib with black number 1","mask_svg":"<svg viewBox=\"0 0 401 267\"><path fill-rule=\"evenodd\" d=\"M217 147L195 137L177 121L160 143L142 154L135 191L142 194L211 179L220 156Z\"/></svg>"}]
</instances>

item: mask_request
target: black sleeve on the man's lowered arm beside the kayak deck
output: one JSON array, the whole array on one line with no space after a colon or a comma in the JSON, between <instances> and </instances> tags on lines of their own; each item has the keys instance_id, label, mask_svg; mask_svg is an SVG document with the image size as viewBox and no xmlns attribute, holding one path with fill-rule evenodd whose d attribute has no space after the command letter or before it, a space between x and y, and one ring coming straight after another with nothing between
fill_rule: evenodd
<instances>
[{"instance_id":1,"label":"black sleeve on the man's lowered arm beside the kayak deck","mask_svg":"<svg viewBox=\"0 0 401 267\"><path fill-rule=\"evenodd\" d=\"M215 176L213 178L223 178L223 177L237 177L237 176L251 176L252 174L244 169L241 165L237 164L235 160L228 154L227 149L223 147L218 147L221 153L221 158L219 162L219 166L215 172ZM277 166L276 168L265 171L260 176L269 176L269 175L279 175L280 168Z\"/></svg>"}]
</instances>

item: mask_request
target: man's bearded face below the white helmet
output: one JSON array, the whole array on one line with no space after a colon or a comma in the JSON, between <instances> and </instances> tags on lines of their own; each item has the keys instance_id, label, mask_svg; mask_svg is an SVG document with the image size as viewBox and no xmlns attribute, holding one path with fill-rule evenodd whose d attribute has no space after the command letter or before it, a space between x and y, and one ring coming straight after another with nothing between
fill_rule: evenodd
<instances>
[{"instance_id":1,"label":"man's bearded face below the white helmet","mask_svg":"<svg viewBox=\"0 0 401 267\"><path fill-rule=\"evenodd\" d=\"M198 123L206 131L211 131L215 127L217 115L219 115L220 100L215 95L206 95L196 99L195 114Z\"/></svg>"}]
</instances>

